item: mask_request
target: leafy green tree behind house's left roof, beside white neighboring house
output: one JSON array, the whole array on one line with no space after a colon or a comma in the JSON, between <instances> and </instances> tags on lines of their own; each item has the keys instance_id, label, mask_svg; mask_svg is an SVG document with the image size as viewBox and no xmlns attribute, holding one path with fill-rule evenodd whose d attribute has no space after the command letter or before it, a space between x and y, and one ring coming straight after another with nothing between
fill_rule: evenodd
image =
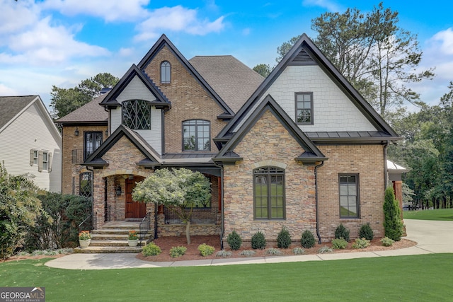
<instances>
[{"instance_id":1,"label":"leafy green tree behind house's left roof, beside white neighboring house","mask_svg":"<svg viewBox=\"0 0 453 302\"><path fill-rule=\"evenodd\" d=\"M81 81L74 88L59 88L52 86L50 107L52 117L58 119L73 112L77 108L100 95L102 88L113 87L120 81L116 76L108 73L97 74L93 78Z\"/></svg>"}]
</instances>

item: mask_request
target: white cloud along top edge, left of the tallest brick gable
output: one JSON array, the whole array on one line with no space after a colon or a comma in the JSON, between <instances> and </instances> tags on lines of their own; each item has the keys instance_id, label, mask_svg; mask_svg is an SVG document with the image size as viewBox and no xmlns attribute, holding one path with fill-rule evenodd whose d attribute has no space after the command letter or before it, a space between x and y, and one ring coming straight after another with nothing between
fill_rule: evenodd
<instances>
[{"instance_id":1,"label":"white cloud along top edge, left of the tallest brick gable","mask_svg":"<svg viewBox=\"0 0 453 302\"><path fill-rule=\"evenodd\" d=\"M105 21L137 21L147 16L149 0L47 0L42 8L57 10L65 16L87 15Z\"/></svg>"}]
</instances>

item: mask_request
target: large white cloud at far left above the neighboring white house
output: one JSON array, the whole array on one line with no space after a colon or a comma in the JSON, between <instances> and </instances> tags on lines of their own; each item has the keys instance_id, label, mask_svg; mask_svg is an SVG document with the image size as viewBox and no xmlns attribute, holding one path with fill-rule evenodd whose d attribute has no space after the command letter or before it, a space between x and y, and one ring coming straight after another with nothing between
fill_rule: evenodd
<instances>
[{"instance_id":1,"label":"large white cloud at far left above the neighboring white house","mask_svg":"<svg viewBox=\"0 0 453 302\"><path fill-rule=\"evenodd\" d=\"M58 64L72 57L98 57L108 55L108 50L85 42L76 41L74 29L50 25L51 18L36 22L33 27L8 37L11 54L0 53L5 64L30 62L32 64Z\"/></svg>"}]
</instances>

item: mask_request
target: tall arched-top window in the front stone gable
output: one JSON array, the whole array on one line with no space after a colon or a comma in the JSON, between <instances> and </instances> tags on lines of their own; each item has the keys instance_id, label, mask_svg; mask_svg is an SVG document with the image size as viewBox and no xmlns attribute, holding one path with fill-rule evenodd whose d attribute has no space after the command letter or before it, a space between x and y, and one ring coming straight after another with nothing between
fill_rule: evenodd
<instances>
[{"instance_id":1,"label":"tall arched-top window in the front stone gable","mask_svg":"<svg viewBox=\"0 0 453 302\"><path fill-rule=\"evenodd\" d=\"M254 219L285 219L285 170L253 170L253 211Z\"/></svg>"}]
</instances>

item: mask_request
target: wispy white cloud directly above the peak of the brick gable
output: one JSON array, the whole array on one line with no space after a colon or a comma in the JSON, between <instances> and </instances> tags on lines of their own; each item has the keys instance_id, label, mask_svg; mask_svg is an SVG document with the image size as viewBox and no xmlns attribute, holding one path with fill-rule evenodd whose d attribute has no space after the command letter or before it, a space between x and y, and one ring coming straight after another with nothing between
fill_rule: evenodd
<instances>
[{"instance_id":1,"label":"wispy white cloud directly above the peak of the brick gable","mask_svg":"<svg viewBox=\"0 0 453 302\"><path fill-rule=\"evenodd\" d=\"M197 18L197 10L183 6L157 8L149 13L146 21L137 25L139 34L134 38L137 41L150 40L158 37L163 31L182 31L193 35L218 33L224 28L224 17L210 22Z\"/></svg>"}]
</instances>

